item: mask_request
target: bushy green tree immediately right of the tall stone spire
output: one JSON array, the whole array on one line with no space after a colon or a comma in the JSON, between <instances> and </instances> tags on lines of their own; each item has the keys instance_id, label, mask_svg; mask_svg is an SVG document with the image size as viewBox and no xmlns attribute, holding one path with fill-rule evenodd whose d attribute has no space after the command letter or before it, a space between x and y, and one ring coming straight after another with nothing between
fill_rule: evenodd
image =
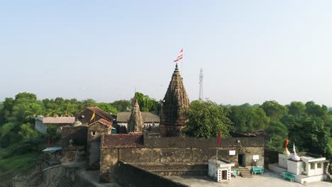
<instances>
[{"instance_id":1,"label":"bushy green tree immediately right of the tall stone spire","mask_svg":"<svg viewBox=\"0 0 332 187\"><path fill-rule=\"evenodd\" d=\"M223 137L229 135L231 120L227 118L227 109L211 101L192 101L191 106L184 111L188 119L182 130L189 137L216 137L221 131Z\"/></svg>"}]
</instances>

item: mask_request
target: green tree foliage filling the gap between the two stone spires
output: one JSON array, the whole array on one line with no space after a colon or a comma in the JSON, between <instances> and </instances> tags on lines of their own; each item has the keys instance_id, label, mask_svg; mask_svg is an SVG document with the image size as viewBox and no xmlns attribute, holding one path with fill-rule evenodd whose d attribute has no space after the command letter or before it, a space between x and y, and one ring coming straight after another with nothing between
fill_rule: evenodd
<instances>
[{"instance_id":1,"label":"green tree foliage filling the gap between the two stone spires","mask_svg":"<svg viewBox=\"0 0 332 187\"><path fill-rule=\"evenodd\" d=\"M140 106L140 111L142 112L157 112L159 103L155 101L154 98L150 98L142 93L135 93L135 100Z\"/></svg>"}]
</instances>

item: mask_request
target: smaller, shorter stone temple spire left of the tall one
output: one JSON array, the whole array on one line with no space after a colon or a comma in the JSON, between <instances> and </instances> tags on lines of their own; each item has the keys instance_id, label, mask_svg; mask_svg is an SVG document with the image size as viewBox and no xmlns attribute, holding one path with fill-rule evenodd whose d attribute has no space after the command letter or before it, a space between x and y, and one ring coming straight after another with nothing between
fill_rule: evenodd
<instances>
[{"instance_id":1,"label":"smaller, shorter stone temple spire left of the tall one","mask_svg":"<svg viewBox=\"0 0 332 187\"><path fill-rule=\"evenodd\" d=\"M134 106L131 111L131 118L128 120L128 132L142 132L143 130L143 118L140 113L140 106L134 98Z\"/></svg>"}]
</instances>

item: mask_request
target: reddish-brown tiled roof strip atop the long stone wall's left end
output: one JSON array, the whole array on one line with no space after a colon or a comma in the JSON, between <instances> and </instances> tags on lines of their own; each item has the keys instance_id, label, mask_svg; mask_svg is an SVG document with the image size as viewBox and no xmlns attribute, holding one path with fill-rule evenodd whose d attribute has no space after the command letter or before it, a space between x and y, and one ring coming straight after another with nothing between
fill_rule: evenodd
<instances>
[{"instance_id":1,"label":"reddish-brown tiled roof strip atop the long stone wall's left end","mask_svg":"<svg viewBox=\"0 0 332 187\"><path fill-rule=\"evenodd\" d=\"M103 135L101 147L144 147L140 133Z\"/></svg>"}]
</instances>

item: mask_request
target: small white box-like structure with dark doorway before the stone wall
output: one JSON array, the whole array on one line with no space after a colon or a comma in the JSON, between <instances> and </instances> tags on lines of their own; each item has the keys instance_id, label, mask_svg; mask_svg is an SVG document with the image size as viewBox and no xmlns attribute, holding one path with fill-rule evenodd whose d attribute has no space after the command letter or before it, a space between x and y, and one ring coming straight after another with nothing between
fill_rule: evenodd
<instances>
[{"instance_id":1,"label":"small white box-like structure with dark doorway before the stone wall","mask_svg":"<svg viewBox=\"0 0 332 187\"><path fill-rule=\"evenodd\" d=\"M209 176L217 182L231 180L231 167L235 164L209 159Z\"/></svg>"}]
</instances>

